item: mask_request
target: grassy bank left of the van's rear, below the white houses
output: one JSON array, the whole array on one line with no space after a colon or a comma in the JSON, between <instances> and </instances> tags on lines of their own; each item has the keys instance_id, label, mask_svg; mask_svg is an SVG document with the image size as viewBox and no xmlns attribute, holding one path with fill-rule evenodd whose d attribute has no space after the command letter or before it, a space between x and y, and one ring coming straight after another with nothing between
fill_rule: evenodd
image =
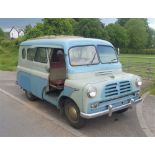
<instances>
[{"instance_id":1,"label":"grassy bank left of the van's rear, below the white houses","mask_svg":"<svg viewBox=\"0 0 155 155\"><path fill-rule=\"evenodd\" d=\"M0 46L0 70L16 70L18 57L17 47Z\"/></svg>"}]
</instances>

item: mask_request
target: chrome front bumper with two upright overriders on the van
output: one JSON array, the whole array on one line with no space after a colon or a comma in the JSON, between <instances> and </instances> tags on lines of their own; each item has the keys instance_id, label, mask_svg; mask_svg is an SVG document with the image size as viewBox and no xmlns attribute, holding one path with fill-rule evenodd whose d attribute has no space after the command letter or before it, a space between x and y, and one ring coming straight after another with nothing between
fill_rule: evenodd
<instances>
[{"instance_id":1,"label":"chrome front bumper with two upright overriders on the van","mask_svg":"<svg viewBox=\"0 0 155 155\"><path fill-rule=\"evenodd\" d=\"M141 101L142 101L142 98L139 98L137 100L131 99L128 104L121 105L121 106L115 107L115 108L113 108L112 105L109 105L108 109L105 111L92 113L92 114L86 114L86 113L81 112L80 116L83 118L86 118L86 119L95 118L95 117L99 117L99 116L106 115L106 114L108 114L109 116L112 116L113 112L124 109L124 108L132 108L133 104L141 102Z\"/></svg>"}]
</instances>

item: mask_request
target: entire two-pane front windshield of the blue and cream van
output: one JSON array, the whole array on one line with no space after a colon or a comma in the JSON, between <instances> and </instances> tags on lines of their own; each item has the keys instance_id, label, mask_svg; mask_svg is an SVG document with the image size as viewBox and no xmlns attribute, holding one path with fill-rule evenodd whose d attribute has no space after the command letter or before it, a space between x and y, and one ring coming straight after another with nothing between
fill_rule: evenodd
<instances>
[{"instance_id":1,"label":"entire two-pane front windshield of the blue and cream van","mask_svg":"<svg viewBox=\"0 0 155 155\"><path fill-rule=\"evenodd\" d=\"M69 50L69 58L72 66L91 65L101 63L118 62L116 52L111 46L78 46Z\"/></svg>"}]
</instances>

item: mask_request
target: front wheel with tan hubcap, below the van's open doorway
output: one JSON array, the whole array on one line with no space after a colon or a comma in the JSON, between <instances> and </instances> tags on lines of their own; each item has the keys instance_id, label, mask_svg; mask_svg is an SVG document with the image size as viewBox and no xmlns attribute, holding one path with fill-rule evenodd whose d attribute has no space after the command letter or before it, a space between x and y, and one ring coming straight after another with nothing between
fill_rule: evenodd
<instances>
[{"instance_id":1,"label":"front wheel with tan hubcap, below the van's open doorway","mask_svg":"<svg viewBox=\"0 0 155 155\"><path fill-rule=\"evenodd\" d=\"M85 125L85 120L80 116L80 110L73 101L69 99L65 101L64 112L70 125L74 128L79 129Z\"/></svg>"}]
</instances>

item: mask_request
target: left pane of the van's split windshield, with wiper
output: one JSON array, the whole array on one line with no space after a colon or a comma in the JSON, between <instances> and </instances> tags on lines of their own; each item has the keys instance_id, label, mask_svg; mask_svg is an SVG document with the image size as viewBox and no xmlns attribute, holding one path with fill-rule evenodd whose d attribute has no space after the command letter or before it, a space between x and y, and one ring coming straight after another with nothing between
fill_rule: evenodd
<instances>
[{"instance_id":1,"label":"left pane of the van's split windshield, with wiper","mask_svg":"<svg viewBox=\"0 0 155 155\"><path fill-rule=\"evenodd\" d=\"M90 65L99 63L95 46L78 46L69 50L72 66Z\"/></svg>"}]
</instances>

